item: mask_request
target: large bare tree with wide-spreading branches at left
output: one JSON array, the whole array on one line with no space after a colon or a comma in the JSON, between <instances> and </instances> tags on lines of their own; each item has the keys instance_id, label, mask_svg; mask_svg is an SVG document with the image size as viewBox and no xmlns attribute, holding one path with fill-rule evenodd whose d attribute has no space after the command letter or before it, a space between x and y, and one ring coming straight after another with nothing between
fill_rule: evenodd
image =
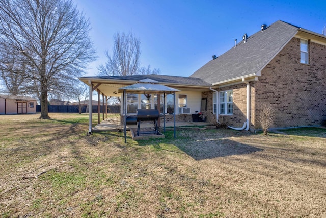
<instances>
[{"instance_id":1,"label":"large bare tree with wide-spreading branches at left","mask_svg":"<svg viewBox=\"0 0 326 218\"><path fill-rule=\"evenodd\" d=\"M41 116L47 119L49 90L63 94L95 60L89 20L71 0L0 0L0 44L19 52L38 85Z\"/></svg>"}]
</instances>

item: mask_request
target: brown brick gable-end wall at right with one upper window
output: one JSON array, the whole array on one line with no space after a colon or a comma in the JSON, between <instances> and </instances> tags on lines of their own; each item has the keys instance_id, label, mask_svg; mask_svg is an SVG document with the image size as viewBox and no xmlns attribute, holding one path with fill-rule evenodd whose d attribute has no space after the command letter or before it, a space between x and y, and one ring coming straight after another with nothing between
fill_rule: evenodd
<instances>
[{"instance_id":1,"label":"brown brick gable-end wall at right with one upper window","mask_svg":"<svg viewBox=\"0 0 326 218\"><path fill-rule=\"evenodd\" d=\"M273 127L320 125L326 119L326 46L309 42L309 65L300 63L300 39L292 38L262 70L255 84L259 105L275 109ZM254 126L257 124L255 116Z\"/></svg>"}]
</instances>

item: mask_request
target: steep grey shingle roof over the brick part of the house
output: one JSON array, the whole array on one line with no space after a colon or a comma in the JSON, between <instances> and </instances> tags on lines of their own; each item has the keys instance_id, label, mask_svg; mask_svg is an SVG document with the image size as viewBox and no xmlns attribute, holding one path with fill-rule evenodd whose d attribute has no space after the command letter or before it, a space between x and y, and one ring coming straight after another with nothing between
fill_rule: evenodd
<instances>
[{"instance_id":1,"label":"steep grey shingle roof over the brick part of the house","mask_svg":"<svg viewBox=\"0 0 326 218\"><path fill-rule=\"evenodd\" d=\"M201 78L206 83L218 83L234 78L257 74L297 33L299 27L276 21L264 31L249 36L246 43L209 61L190 77Z\"/></svg>"}]
</instances>

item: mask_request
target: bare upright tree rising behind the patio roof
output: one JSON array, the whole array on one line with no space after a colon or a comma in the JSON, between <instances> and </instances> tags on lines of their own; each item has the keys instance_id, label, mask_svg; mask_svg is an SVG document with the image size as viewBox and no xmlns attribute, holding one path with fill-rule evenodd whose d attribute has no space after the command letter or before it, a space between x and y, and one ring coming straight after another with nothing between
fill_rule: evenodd
<instances>
[{"instance_id":1,"label":"bare upright tree rising behind the patio roof","mask_svg":"<svg viewBox=\"0 0 326 218\"><path fill-rule=\"evenodd\" d=\"M140 66L141 42L133 36L117 32L114 36L113 55L108 50L105 55L108 58L105 66L98 67L99 76L127 76L138 74Z\"/></svg>"}]
</instances>

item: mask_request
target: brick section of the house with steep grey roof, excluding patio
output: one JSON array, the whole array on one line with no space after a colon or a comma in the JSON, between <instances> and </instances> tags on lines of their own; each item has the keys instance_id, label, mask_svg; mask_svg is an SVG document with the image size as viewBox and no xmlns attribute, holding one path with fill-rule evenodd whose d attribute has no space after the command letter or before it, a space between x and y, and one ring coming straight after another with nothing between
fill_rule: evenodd
<instances>
[{"instance_id":1,"label":"brick section of the house with steep grey roof, excluding patio","mask_svg":"<svg viewBox=\"0 0 326 218\"><path fill-rule=\"evenodd\" d=\"M250 129L260 128L257 116L263 103L275 109L273 128L316 126L326 119L326 37L280 20L244 35L191 77L212 81L220 97L233 92L233 108L223 106L225 100L214 108L231 126L246 122L247 82ZM212 99L212 92L203 95ZM209 110L212 105L207 105Z\"/></svg>"}]
</instances>

